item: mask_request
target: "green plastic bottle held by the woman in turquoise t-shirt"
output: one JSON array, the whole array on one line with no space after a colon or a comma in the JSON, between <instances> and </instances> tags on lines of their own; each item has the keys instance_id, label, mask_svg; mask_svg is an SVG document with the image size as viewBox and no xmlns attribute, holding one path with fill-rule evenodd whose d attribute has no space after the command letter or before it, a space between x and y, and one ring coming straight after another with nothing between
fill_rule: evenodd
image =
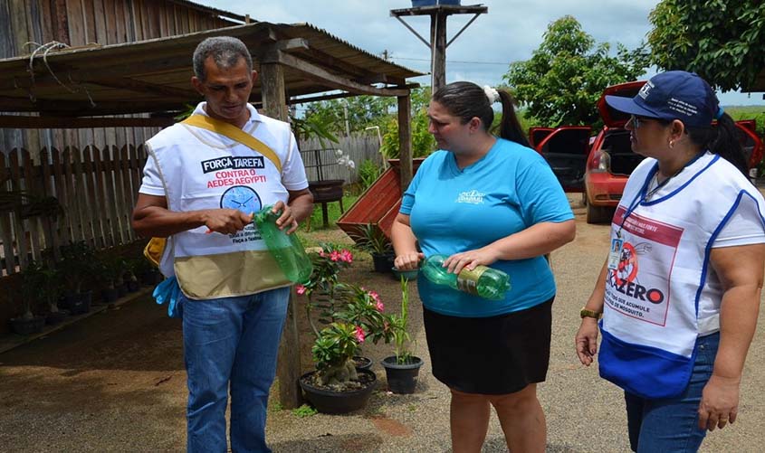
<instances>
[{"instance_id":1,"label":"green plastic bottle held by the woman in turquoise t-shirt","mask_svg":"<svg viewBox=\"0 0 765 453\"><path fill-rule=\"evenodd\" d=\"M473 270L463 268L459 274L453 274L444 267L446 258L445 255L431 255L423 262L420 271L436 285L487 299L502 300L510 290L510 276L502 270L476 266Z\"/></svg>"}]
</instances>

